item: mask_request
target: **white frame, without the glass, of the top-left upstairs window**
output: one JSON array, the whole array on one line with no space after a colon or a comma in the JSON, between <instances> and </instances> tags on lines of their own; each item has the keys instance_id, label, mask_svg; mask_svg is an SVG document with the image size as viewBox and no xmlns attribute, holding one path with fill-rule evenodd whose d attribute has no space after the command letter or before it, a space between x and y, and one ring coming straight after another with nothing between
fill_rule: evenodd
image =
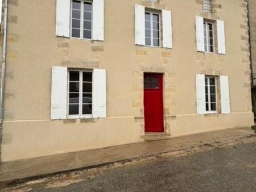
<instances>
[{"instance_id":1,"label":"white frame, without the glass, of the top-left upstairs window","mask_svg":"<svg viewBox=\"0 0 256 192\"><path fill-rule=\"evenodd\" d=\"M72 15L73 15L73 0L71 0L71 15L70 15L70 34L72 39L84 39L84 40L92 40L93 39L93 0L75 0L81 2L81 15L80 15L80 37L73 37L72 36ZM90 39L84 38L84 2L91 3L92 4L92 26L91 26L91 36Z\"/></svg>"}]
</instances>

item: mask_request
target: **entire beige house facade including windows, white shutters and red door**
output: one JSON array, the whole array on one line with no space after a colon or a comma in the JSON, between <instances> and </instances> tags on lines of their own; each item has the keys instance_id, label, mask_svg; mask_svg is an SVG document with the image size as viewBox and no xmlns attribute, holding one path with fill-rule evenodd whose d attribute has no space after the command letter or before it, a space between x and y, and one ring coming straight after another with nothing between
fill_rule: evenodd
<instances>
[{"instance_id":1,"label":"entire beige house facade including windows, white shutters and red door","mask_svg":"<svg viewBox=\"0 0 256 192\"><path fill-rule=\"evenodd\" d=\"M1 161L253 124L245 0L7 9Z\"/></svg>"}]
</instances>

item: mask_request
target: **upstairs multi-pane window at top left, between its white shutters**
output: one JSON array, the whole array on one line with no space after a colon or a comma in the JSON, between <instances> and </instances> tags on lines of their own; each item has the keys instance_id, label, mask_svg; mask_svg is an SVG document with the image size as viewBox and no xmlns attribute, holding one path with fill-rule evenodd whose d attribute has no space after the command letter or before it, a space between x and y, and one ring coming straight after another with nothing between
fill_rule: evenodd
<instances>
[{"instance_id":1,"label":"upstairs multi-pane window at top left, between its white shutters","mask_svg":"<svg viewBox=\"0 0 256 192\"><path fill-rule=\"evenodd\" d=\"M92 2L72 1L72 37L92 39Z\"/></svg>"}]
</instances>

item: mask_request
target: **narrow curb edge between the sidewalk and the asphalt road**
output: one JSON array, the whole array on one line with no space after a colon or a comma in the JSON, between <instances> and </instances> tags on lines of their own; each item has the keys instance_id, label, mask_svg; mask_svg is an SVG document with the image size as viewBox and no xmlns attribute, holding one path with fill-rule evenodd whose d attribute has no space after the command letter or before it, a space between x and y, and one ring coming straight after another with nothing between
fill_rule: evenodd
<instances>
[{"instance_id":1,"label":"narrow curb edge between the sidewalk and the asphalt road","mask_svg":"<svg viewBox=\"0 0 256 192\"><path fill-rule=\"evenodd\" d=\"M151 154L148 154L148 155L139 155L139 156L135 156L135 157L131 157L131 158L125 158L125 159L121 159L121 160L114 160L114 161L102 162L102 163L94 164L94 165L82 166L80 168L67 169L67 170L61 170L61 171L56 171L56 172L47 173L47 174L38 174L37 176L30 176L30 177L0 181L0 189L4 189L4 188L7 188L7 187L19 185L21 183L29 182L29 181L32 181L32 180L39 180L39 179L42 179L42 178L56 176L57 174L65 174L65 173L76 172L76 171L79 171L79 170L99 168L101 166L113 165L115 163L125 163L125 162L138 160L139 158L155 157L155 156L163 155L165 153L170 153L170 152L178 152L178 151L184 151L184 150L189 150L189 149L194 149L194 148L214 147L214 146L217 146L217 145L214 145L214 144L216 144L216 142L221 142L222 143L221 145L225 145L225 144L232 143L233 141L246 139L246 138L250 138L250 137L255 137L255 136L256 136L255 134L250 133L249 135L240 136L240 137L233 137L233 138L229 138L229 139L222 140L222 141L214 141L212 143L201 143L201 144L196 144L196 145L190 145L189 147L181 147L181 148L177 148L177 149L173 149L173 150L151 153Z\"/></svg>"}]
</instances>

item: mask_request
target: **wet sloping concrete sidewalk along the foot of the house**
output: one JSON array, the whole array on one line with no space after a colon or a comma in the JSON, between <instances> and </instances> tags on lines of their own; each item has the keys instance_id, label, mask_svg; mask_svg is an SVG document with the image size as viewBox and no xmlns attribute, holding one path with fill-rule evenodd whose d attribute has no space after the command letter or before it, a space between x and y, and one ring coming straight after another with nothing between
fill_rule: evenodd
<instances>
[{"instance_id":1,"label":"wet sloping concrete sidewalk along the foot of the house","mask_svg":"<svg viewBox=\"0 0 256 192\"><path fill-rule=\"evenodd\" d=\"M12 183L24 182L32 178L61 172L92 168L94 166L127 161L138 157L200 147L216 142L227 143L251 134L254 134L251 128L233 128L175 137L168 140L119 145L27 160L1 162L0 188L11 185Z\"/></svg>"}]
</instances>

